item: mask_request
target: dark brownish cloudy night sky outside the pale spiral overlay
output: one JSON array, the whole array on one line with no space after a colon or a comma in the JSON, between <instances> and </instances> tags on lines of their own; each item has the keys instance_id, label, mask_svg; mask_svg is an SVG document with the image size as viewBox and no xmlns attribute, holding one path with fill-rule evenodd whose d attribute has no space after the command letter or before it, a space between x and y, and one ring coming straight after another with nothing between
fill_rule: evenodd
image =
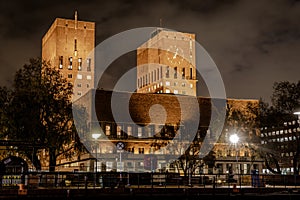
<instances>
[{"instance_id":1,"label":"dark brownish cloudy night sky outside the pale spiral overlay","mask_svg":"<svg viewBox=\"0 0 300 200\"><path fill-rule=\"evenodd\" d=\"M41 56L56 17L96 22L96 43L132 28L163 26L196 34L217 64L228 97L269 100L275 81L300 80L299 0L2 0L0 85Z\"/></svg>"}]
</instances>

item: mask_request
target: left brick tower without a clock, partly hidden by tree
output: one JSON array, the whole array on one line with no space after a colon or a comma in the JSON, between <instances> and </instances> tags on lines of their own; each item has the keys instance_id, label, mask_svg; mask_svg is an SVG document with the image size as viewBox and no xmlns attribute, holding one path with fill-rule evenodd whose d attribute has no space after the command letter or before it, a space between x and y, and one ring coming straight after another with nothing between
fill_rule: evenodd
<instances>
[{"instance_id":1,"label":"left brick tower without a clock, partly hidden by tree","mask_svg":"<svg viewBox=\"0 0 300 200\"><path fill-rule=\"evenodd\" d=\"M57 18L42 39L42 59L73 84L75 101L94 88L95 23ZM76 82L75 82L76 80Z\"/></svg>"}]
</instances>

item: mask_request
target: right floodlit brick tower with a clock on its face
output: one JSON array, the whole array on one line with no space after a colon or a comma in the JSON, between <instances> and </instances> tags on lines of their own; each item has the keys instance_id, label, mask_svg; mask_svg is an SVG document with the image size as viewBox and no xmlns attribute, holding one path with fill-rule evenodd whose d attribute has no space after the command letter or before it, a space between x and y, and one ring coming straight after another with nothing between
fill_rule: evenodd
<instances>
[{"instance_id":1,"label":"right floodlit brick tower with a clock on its face","mask_svg":"<svg viewBox=\"0 0 300 200\"><path fill-rule=\"evenodd\" d=\"M197 96L195 34L158 28L137 50L137 92Z\"/></svg>"}]
</instances>

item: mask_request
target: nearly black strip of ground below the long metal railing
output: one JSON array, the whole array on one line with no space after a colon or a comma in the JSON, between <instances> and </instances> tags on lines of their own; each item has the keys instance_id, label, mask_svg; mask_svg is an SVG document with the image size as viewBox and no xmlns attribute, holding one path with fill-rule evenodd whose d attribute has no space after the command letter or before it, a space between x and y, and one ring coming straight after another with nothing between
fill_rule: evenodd
<instances>
[{"instance_id":1,"label":"nearly black strip of ground below the long metal railing","mask_svg":"<svg viewBox=\"0 0 300 200\"><path fill-rule=\"evenodd\" d=\"M18 189L0 190L0 199L299 199L296 188L99 188L99 189Z\"/></svg>"}]
</instances>

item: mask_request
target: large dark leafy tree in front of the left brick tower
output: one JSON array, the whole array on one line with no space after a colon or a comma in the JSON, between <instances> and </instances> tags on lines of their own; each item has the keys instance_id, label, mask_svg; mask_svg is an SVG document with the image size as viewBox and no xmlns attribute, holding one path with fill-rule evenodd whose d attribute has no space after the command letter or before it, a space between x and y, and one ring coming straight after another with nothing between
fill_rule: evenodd
<instances>
[{"instance_id":1,"label":"large dark leafy tree in front of the left brick tower","mask_svg":"<svg viewBox=\"0 0 300 200\"><path fill-rule=\"evenodd\" d=\"M55 171L59 156L71 157L84 149L73 122L72 93L72 84L41 59L30 59L18 70L12 90L6 92L7 120L1 123L1 137L32 143L35 148L24 153L37 170L40 149L49 155L49 171ZM3 99L3 88L2 94Z\"/></svg>"}]
</instances>

